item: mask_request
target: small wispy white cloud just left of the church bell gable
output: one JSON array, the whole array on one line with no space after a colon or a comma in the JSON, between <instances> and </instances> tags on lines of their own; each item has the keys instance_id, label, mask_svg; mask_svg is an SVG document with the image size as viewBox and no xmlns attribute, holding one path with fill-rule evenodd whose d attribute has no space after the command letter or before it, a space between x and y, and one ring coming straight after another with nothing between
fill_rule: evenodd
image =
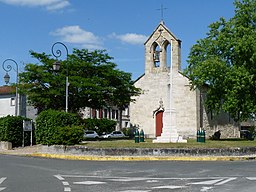
<instances>
[{"instance_id":1,"label":"small wispy white cloud just left of the church bell gable","mask_svg":"<svg viewBox=\"0 0 256 192\"><path fill-rule=\"evenodd\" d=\"M119 39L122 42L133 44L133 45L144 44L148 38L145 35L140 35L140 34L136 34L136 33L126 33L123 35L117 35L116 33L112 33L111 37Z\"/></svg>"}]
</instances>

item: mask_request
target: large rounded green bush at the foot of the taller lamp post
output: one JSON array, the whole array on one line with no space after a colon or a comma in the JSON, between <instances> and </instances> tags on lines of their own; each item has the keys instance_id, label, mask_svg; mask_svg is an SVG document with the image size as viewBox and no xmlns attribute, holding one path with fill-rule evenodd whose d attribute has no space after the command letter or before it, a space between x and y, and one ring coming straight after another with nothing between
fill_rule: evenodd
<instances>
[{"instance_id":1,"label":"large rounded green bush at the foot of the taller lamp post","mask_svg":"<svg viewBox=\"0 0 256 192\"><path fill-rule=\"evenodd\" d=\"M43 111L36 118L36 141L46 145L77 144L81 141L80 137L83 137L82 127L83 121L76 114Z\"/></svg>"}]
</instances>

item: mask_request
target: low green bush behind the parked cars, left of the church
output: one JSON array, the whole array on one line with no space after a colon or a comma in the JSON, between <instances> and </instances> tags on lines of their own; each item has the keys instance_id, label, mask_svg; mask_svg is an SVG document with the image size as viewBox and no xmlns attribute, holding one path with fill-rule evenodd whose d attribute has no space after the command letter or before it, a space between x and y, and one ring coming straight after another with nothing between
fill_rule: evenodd
<instances>
[{"instance_id":1,"label":"low green bush behind the parked cars, left of the church","mask_svg":"<svg viewBox=\"0 0 256 192\"><path fill-rule=\"evenodd\" d=\"M85 129L96 131L99 135L115 130L116 122L109 119L84 119Z\"/></svg>"}]
</instances>

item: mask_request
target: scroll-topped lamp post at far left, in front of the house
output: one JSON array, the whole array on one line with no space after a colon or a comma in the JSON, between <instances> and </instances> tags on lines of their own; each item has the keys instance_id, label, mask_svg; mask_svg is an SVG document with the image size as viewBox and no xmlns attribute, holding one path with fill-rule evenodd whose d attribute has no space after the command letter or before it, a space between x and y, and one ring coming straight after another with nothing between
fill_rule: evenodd
<instances>
[{"instance_id":1,"label":"scroll-topped lamp post at far left, in front of the house","mask_svg":"<svg viewBox=\"0 0 256 192\"><path fill-rule=\"evenodd\" d=\"M13 59L6 59L3 62L3 69L5 70L6 74L4 76L4 81L6 84L9 83L10 81L10 76L8 74L8 72L10 72L13 67L11 66L11 64L8 64L8 62L12 62L15 64L16 66L16 96L15 96L15 116L18 115L18 82L19 82L19 67L16 61L14 61ZM15 69L14 69L15 70Z\"/></svg>"}]
</instances>

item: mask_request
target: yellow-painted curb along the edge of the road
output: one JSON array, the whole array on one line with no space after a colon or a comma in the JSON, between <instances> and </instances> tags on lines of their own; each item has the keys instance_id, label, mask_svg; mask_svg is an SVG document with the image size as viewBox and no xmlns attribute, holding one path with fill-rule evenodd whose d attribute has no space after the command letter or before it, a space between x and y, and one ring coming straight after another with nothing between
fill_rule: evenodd
<instances>
[{"instance_id":1,"label":"yellow-painted curb along the edge of the road","mask_svg":"<svg viewBox=\"0 0 256 192\"><path fill-rule=\"evenodd\" d=\"M21 155L22 156L22 155ZM249 161L256 160L255 156L82 156L33 153L25 154L30 157L43 157L66 160L84 161Z\"/></svg>"}]
</instances>

